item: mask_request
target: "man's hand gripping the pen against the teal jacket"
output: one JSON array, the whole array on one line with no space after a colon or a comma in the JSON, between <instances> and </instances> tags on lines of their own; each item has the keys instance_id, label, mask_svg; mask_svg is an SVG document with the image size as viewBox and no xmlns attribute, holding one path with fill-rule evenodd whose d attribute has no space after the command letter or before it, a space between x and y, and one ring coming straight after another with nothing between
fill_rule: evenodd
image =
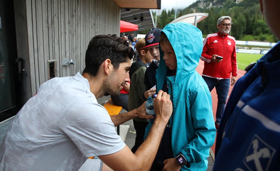
<instances>
[{"instance_id":1,"label":"man's hand gripping the pen against the teal jacket","mask_svg":"<svg viewBox=\"0 0 280 171\"><path fill-rule=\"evenodd\" d=\"M169 120L173 112L173 106L169 94L159 90L157 97L154 98L154 111L156 113L156 119Z\"/></svg>"}]
</instances>

